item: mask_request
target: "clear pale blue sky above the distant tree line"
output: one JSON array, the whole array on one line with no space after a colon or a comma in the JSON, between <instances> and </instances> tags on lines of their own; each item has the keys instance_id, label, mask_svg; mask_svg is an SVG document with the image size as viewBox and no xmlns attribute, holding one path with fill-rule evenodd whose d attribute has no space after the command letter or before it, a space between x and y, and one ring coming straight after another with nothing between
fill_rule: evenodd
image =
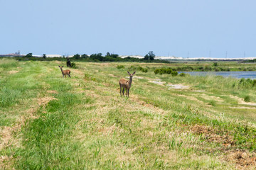
<instances>
[{"instance_id":1,"label":"clear pale blue sky above the distant tree line","mask_svg":"<svg viewBox=\"0 0 256 170\"><path fill-rule=\"evenodd\" d=\"M256 57L255 0L0 0L0 54Z\"/></svg>"}]
</instances>

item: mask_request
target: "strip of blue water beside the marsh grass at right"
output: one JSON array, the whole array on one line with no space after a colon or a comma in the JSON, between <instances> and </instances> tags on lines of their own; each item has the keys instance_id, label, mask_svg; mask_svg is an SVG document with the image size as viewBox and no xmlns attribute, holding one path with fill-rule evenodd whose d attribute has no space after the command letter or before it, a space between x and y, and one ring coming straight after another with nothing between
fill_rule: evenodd
<instances>
[{"instance_id":1,"label":"strip of blue water beside the marsh grass at right","mask_svg":"<svg viewBox=\"0 0 256 170\"><path fill-rule=\"evenodd\" d=\"M181 72L178 72L181 73ZM223 77L234 77L234 78L250 78L256 79L256 72L183 72L186 74L191 74L192 76L206 76L206 75L217 75Z\"/></svg>"}]
</instances>

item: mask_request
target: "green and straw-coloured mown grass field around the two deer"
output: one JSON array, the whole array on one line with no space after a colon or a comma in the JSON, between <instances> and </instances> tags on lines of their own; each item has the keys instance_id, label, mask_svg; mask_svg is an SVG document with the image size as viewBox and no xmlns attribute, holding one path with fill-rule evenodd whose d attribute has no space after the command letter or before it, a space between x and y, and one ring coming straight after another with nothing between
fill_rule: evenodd
<instances>
[{"instance_id":1,"label":"green and straw-coloured mown grass field around the two deer","mask_svg":"<svg viewBox=\"0 0 256 170\"><path fill-rule=\"evenodd\" d=\"M60 64L0 60L0 169L256 168L255 86L154 74L172 64L76 62L63 79Z\"/></svg>"}]
</instances>

